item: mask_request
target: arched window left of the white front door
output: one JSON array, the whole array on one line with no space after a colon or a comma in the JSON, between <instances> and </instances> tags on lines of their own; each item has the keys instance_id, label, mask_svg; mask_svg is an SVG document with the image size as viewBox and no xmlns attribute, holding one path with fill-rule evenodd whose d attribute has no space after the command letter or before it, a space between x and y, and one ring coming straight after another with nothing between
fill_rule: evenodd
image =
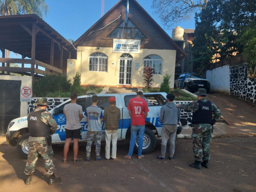
<instances>
[{"instance_id":1,"label":"arched window left of the white front door","mask_svg":"<svg viewBox=\"0 0 256 192\"><path fill-rule=\"evenodd\" d=\"M104 53L96 52L90 55L89 71L105 71L108 68L108 57Z\"/></svg>"}]
</instances>

